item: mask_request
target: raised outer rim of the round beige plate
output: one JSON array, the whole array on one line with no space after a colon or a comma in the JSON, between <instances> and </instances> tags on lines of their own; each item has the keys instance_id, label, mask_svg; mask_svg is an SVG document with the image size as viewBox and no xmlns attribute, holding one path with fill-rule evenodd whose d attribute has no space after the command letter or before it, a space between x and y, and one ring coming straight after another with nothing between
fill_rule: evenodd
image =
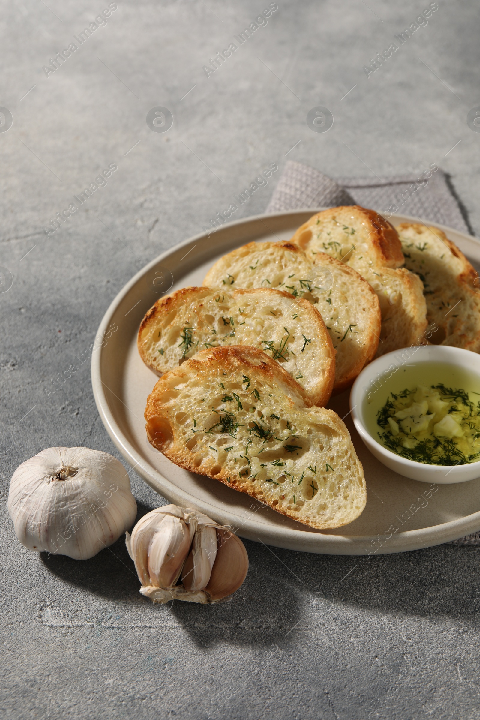
<instances>
[{"instance_id":1,"label":"raised outer rim of the round beige plate","mask_svg":"<svg viewBox=\"0 0 480 720\"><path fill-rule=\"evenodd\" d=\"M316 212L326 210L325 207L306 207L298 208L296 210L286 210L284 212L275 213L261 213L259 215L250 215L248 217L239 218L234 222L228 222L222 225L218 230L225 230L227 228L233 228L235 226L245 225L255 220L262 220L265 217L289 217L289 215L297 215L299 213L311 213L314 215ZM377 211L378 212L378 211ZM379 212L380 215L381 212ZM382 215L383 217L383 215ZM435 228L443 230L445 234L456 233L461 235L465 240L477 243L480 248L480 240L474 237L474 235L468 235L463 233L461 230L450 228L448 225L442 225L439 222L433 222L430 220L422 220L419 217L412 217L411 215L398 214L399 219L402 218L401 222L421 222L422 224L429 224ZM389 218L389 222L394 219L392 216ZM391 223L393 224L393 223ZM267 228L268 229L268 228ZM216 232L217 232L216 231ZM191 238L183 240L181 243L176 243L168 250L155 257L152 261L143 266L134 276L119 290L117 295L110 302L107 310L104 312L104 316L101 319L99 328L96 330L95 338L103 338L109 324L111 323L112 315L117 310L119 304L124 300L124 297L130 292L132 287L144 276L148 271L153 269L155 266L161 263L164 259L175 251L181 248L189 246L189 244L197 242L202 239L209 238L207 233L198 233L193 235ZM168 291L166 291L168 292ZM165 293L166 294L166 293ZM96 339L94 341L96 343ZM161 492L164 497L172 500L178 505L194 505L202 512L214 518L214 520L222 521L235 528L235 531L241 537L249 540L262 542L263 544L273 545L282 547L285 549L299 550L301 552L314 552L317 554L345 554L345 555L371 555L371 554L390 554L394 552L409 552L410 550L421 549L425 547L423 540L427 540L428 546L435 546L444 544L445 542L456 540L460 537L472 534L480 530L480 510L471 515L463 516L463 518L457 518L456 520L448 521L448 523L439 523L438 525L429 526L427 528L417 528L415 530L399 531L398 534L392 534L390 538L385 539L384 536L379 534L378 536L370 535L333 535L322 531L302 531L301 523L299 528L281 528L281 536L276 537L273 541L270 537L272 528L267 523L258 521L258 519L243 518L243 523L238 525L238 521L242 516L232 513L230 510L219 510L215 505L208 503L205 500L199 500L189 495L188 492L182 490L177 485L174 485L171 480L164 477L158 470L152 469L148 462L138 453L135 448L130 444L130 441L122 433L122 429L119 428L112 411L109 408L109 402L107 395L104 392L104 383L101 379L101 353L102 347L95 348L97 351L92 352L91 356L91 384L94 393L94 400L96 408L99 412L100 419L104 424L109 437L111 438L114 445L119 450L122 457L130 465L131 469L135 469L135 472L142 477L142 480L148 483L150 487L153 487L155 492ZM155 475L155 479L153 479ZM200 476L197 476L200 477ZM200 477L201 479L201 477ZM158 486L162 486L161 490L158 490ZM165 493L165 494L164 494ZM264 526L264 527L262 527ZM461 528L461 529L459 529ZM274 531L275 532L275 531ZM388 531L386 531L388 533ZM436 537L440 536L441 537ZM380 548L376 548L372 551L372 548L368 549L368 545L371 545L373 541L379 541L379 537L383 537L384 542L381 543ZM364 551L358 548L359 544L365 545ZM353 549L353 545L356 549Z\"/></svg>"}]
</instances>

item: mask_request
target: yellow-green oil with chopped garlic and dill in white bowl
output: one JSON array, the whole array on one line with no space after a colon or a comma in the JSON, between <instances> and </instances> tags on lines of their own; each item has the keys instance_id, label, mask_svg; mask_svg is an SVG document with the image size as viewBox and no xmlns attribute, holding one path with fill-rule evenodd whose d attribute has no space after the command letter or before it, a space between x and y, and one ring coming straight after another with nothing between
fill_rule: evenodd
<instances>
[{"instance_id":1,"label":"yellow-green oil with chopped garlic and dill in white bowl","mask_svg":"<svg viewBox=\"0 0 480 720\"><path fill-rule=\"evenodd\" d=\"M368 432L416 462L480 461L480 374L448 362L416 362L423 349L409 348L404 362L392 363L368 388L362 411Z\"/></svg>"}]
</instances>

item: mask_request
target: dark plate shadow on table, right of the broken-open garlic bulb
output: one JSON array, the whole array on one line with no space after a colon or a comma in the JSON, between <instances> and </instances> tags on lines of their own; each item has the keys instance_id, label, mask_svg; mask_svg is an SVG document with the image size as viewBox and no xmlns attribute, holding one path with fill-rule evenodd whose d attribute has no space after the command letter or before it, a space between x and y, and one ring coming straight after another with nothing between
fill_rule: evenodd
<instances>
[{"instance_id":1,"label":"dark plate shadow on table, right of the broken-open garlic bulb","mask_svg":"<svg viewBox=\"0 0 480 720\"><path fill-rule=\"evenodd\" d=\"M444 544L371 557L304 554L255 543L248 551L252 562L264 559L271 575L287 578L286 568L293 570L305 602L312 595L384 613L451 618L480 608L480 546Z\"/></svg>"}]
</instances>

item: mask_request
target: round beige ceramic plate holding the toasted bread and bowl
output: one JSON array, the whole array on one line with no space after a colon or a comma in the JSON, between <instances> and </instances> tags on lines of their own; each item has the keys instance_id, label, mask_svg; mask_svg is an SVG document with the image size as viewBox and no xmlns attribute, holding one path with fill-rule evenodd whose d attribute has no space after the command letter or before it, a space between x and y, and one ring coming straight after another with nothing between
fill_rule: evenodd
<instances>
[{"instance_id":1,"label":"round beige ceramic plate holding the toasted bread and bowl","mask_svg":"<svg viewBox=\"0 0 480 720\"><path fill-rule=\"evenodd\" d=\"M480 479L430 489L387 469L366 449L348 415L348 391L330 407L345 415L365 469L368 501L350 525L317 531L285 518L242 492L216 480L176 467L152 448L145 436L143 412L157 377L137 354L137 330L143 315L161 294L201 285L207 270L223 254L251 240L287 240L317 208L251 217L225 225L207 238L197 235L163 253L122 289L101 321L91 362L91 379L101 420L124 459L163 497L194 506L240 536L305 552L357 555L403 552L440 544L480 528ZM421 222L397 215L394 223ZM432 225L433 223L427 223ZM438 225L480 268L480 243Z\"/></svg>"}]
</instances>

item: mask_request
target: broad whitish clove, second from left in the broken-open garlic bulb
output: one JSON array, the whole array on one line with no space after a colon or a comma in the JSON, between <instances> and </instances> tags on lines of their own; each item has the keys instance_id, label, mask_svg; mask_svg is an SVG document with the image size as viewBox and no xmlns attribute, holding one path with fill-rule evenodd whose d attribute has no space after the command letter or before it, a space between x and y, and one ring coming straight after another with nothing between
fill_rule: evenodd
<instances>
[{"instance_id":1,"label":"broad whitish clove, second from left in the broken-open garlic bulb","mask_svg":"<svg viewBox=\"0 0 480 720\"><path fill-rule=\"evenodd\" d=\"M186 522L164 515L148 550L148 572L151 585L171 588L180 577L191 539Z\"/></svg>"}]
</instances>

